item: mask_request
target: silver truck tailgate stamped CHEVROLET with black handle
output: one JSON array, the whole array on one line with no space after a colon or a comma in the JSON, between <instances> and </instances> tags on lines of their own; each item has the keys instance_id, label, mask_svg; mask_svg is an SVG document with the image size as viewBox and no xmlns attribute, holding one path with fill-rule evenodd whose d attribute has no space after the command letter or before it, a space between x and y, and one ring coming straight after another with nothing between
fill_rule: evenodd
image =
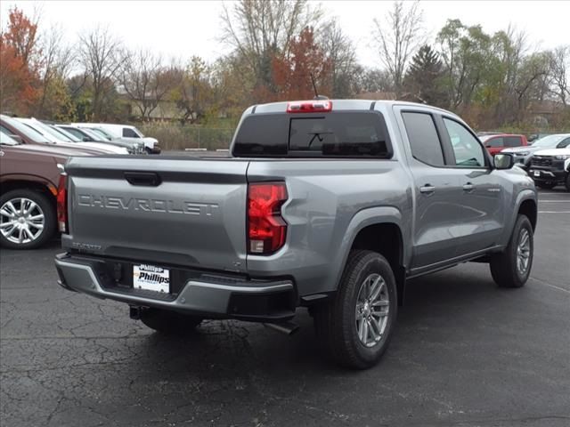
<instances>
[{"instance_id":1,"label":"silver truck tailgate stamped CHEVROLET with black handle","mask_svg":"<svg viewBox=\"0 0 570 427\"><path fill-rule=\"evenodd\" d=\"M246 270L247 160L72 157L70 249Z\"/></svg>"}]
</instances>

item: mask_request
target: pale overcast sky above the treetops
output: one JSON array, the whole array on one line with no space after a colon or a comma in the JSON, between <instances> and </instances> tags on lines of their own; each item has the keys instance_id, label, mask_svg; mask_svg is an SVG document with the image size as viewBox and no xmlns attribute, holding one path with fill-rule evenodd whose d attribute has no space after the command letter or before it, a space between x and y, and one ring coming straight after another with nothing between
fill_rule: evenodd
<instances>
[{"instance_id":1,"label":"pale overcast sky above the treetops","mask_svg":"<svg viewBox=\"0 0 570 427\"><path fill-rule=\"evenodd\" d=\"M231 5L231 1L226 1ZM373 18L382 17L391 1L325 0L322 5L353 40L362 65L379 67L371 44ZM69 44L81 32L108 27L127 47L148 48L163 57L179 60L199 55L207 61L228 52L220 41L224 2L220 1L11 1L0 2L4 28L8 11L16 5L28 15L39 13L40 30L59 26ZM509 24L525 30L533 47L550 49L570 43L570 1L428 1L420 2L428 39L433 40L448 19L466 25L481 24L485 32L506 29Z\"/></svg>"}]
</instances>

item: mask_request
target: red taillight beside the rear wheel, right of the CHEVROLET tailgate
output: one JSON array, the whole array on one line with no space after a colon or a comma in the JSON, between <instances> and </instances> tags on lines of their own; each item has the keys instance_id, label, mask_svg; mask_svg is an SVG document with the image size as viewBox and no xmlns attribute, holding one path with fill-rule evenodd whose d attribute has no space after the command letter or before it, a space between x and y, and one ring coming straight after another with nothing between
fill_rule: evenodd
<instances>
[{"instance_id":1,"label":"red taillight beside the rear wheel, right of the CHEVROLET tailgate","mask_svg":"<svg viewBox=\"0 0 570 427\"><path fill-rule=\"evenodd\" d=\"M285 244L287 222L281 217L281 205L287 197L285 182L249 184L249 254L273 254Z\"/></svg>"}]
</instances>

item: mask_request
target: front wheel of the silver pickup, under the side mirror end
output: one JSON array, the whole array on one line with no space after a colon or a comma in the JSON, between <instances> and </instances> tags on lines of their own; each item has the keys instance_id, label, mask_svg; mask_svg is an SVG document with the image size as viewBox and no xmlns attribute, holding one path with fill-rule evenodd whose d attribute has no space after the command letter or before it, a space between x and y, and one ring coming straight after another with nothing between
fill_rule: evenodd
<instances>
[{"instance_id":1,"label":"front wheel of the silver pickup, under the side mirror end","mask_svg":"<svg viewBox=\"0 0 570 427\"><path fill-rule=\"evenodd\" d=\"M523 243L525 236L528 245ZM519 246L521 246L520 251ZM518 259L519 252L521 253L520 260ZM533 226L525 215L518 215L509 245L501 254L493 254L491 257L489 267L495 283L501 287L524 286L533 268L533 254ZM523 261L524 259L526 262Z\"/></svg>"}]
</instances>

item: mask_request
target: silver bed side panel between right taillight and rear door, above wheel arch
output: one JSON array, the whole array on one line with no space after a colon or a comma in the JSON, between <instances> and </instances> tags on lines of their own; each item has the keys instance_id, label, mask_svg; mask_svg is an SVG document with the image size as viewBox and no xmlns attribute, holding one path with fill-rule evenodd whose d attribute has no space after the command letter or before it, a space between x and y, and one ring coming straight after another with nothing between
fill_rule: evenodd
<instances>
[{"instance_id":1,"label":"silver bed side panel between right taillight and rear door, above wheel arch","mask_svg":"<svg viewBox=\"0 0 570 427\"><path fill-rule=\"evenodd\" d=\"M252 277L294 276L300 295L334 291L358 231L395 222L411 230L411 187L395 160L251 161L248 181L286 181L287 243L276 254L248 255Z\"/></svg>"}]
</instances>

